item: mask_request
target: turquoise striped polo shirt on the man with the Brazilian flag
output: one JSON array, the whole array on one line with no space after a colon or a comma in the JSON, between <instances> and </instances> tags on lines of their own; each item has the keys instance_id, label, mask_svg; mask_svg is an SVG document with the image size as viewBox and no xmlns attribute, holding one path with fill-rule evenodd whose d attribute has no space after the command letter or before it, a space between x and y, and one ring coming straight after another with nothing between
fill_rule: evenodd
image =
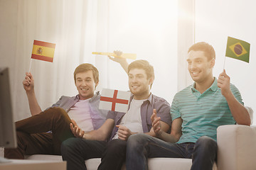
<instances>
[{"instance_id":1,"label":"turquoise striped polo shirt on the man with the Brazilian flag","mask_svg":"<svg viewBox=\"0 0 256 170\"><path fill-rule=\"evenodd\" d=\"M228 103L217 86L217 79L214 79L213 84L203 94L194 88L194 83L174 96L171 118L183 120L182 135L177 143L196 142L201 136L216 140L218 126L235 124ZM230 89L243 105L238 89L233 84L230 84Z\"/></svg>"}]
</instances>

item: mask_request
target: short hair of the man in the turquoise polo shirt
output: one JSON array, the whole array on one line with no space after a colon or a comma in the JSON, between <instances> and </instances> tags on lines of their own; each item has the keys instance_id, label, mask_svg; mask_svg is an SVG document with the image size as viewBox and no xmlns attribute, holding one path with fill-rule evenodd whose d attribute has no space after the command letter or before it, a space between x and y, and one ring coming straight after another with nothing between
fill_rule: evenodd
<instances>
[{"instance_id":1,"label":"short hair of the man in the turquoise polo shirt","mask_svg":"<svg viewBox=\"0 0 256 170\"><path fill-rule=\"evenodd\" d=\"M208 57L208 60L215 60L215 50L212 45L209 45L207 42L197 42L196 44L193 44L189 49L188 52L191 51L203 51Z\"/></svg>"}]
</instances>

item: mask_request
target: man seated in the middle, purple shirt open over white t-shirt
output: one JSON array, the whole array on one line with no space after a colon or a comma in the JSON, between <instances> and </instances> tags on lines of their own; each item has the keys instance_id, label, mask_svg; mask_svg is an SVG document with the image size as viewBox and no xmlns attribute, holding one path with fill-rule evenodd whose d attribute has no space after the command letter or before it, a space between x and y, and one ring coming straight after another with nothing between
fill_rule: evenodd
<instances>
[{"instance_id":1,"label":"man seated in the middle, purple shirt open over white t-shirt","mask_svg":"<svg viewBox=\"0 0 256 170\"><path fill-rule=\"evenodd\" d=\"M100 157L102 162L98 169L121 169L130 135L145 133L155 136L151 128L154 109L161 118L161 128L165 132L169 130L170 105L164 98L150 92L154 68L146 60L137 60L129 64L127 72L132 92L127 113L110 111L107 120L98 130L85 134L80 132L82 130L79 127L73 128L77 138L69 138L61 145L61 154L63 160L67 161L68 170L86 169L86 159Z\"/></svg>"}]
</instances>

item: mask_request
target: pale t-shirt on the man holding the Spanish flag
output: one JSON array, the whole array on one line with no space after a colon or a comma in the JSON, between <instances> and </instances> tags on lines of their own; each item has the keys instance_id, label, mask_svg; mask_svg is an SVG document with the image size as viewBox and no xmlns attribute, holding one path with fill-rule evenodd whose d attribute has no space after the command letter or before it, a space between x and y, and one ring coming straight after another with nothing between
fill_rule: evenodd
<instances>
[{"instance_id":1,"label":"pale t-shirt on the man holding the Spanish flag","mask_svg":"<svg viewBox=\"0 0 256 170\"><path fill-rule=\"evenodd\" d=\"M92 125L92 118L90 116L91 111L89 102L90 98L86 100L79 100L72 108L70 108L70 111L68 111L70 119L75 120L79 128L85 132L94 130Z\"/></svg>"}]
</instances>

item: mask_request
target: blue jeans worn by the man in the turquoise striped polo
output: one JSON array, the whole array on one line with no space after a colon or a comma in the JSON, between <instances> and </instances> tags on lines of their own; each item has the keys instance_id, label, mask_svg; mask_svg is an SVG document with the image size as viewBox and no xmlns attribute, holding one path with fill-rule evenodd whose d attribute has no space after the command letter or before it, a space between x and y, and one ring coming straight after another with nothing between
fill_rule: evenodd
<instances>
[{"instance_id":1,"label":"blue jeans worn by the man in the turquoise striped polo","mask_svg":"<svg viewBox=\"0 0 256 170\"><path fill-rule=\"evenodd\" d=\"M200 137L196 143L171 143L145 134L136 134L127 141L127 170L147 170L147 158L192 158L193 170L212 170L217 157L217 142Z\"/></svg>"}]
</instances>

